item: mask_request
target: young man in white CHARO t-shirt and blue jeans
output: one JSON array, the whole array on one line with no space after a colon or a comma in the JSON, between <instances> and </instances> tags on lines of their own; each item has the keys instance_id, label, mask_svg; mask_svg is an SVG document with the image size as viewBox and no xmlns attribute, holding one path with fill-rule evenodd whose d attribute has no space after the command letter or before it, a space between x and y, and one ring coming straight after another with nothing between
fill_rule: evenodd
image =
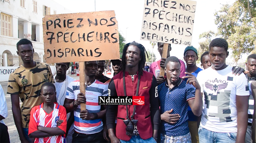
<instances>
[{"instance_id":1,"label":"young man in white CHARO t-shirt and blue jeans","mask_svg":"<svg viewBox=\"0 0 256 143\"><path fill-rule=\"evenodd\" d=\"M209 45L212 66L197 75L204 94L199 142L242 143L248 124L249 87L245 75L232 74L226 65L228 43L217 38Z\"/></svg>"}]
</instances>

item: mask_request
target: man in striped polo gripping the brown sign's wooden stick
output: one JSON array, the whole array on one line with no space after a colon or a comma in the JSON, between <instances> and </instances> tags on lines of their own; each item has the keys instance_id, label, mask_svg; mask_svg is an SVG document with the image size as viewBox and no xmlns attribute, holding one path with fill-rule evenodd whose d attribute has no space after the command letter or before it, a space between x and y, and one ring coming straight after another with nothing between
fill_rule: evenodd
<instances>
[{"instance_id":1,"label":"man in striped polo gripping the brown sign's wooden stick","mask_svg":"<svg viewBox=\"0 0 256 143\"><path fill-rule=\"evenodd\" d=\"M95 80L95 73L98 69L97 61L85 63L86 75L86 98L80 92L80 82L71 82L67 88L64 107L67 112L74 111L74 129L72 143L102 143L103 122L106 115L106 108L101 110L98 105L98 96L108 96L108 86ZM87 102L86 102L87 100ZM82 110L80 104L86 103L86 110Z\"/></svg>"}]
</instances>

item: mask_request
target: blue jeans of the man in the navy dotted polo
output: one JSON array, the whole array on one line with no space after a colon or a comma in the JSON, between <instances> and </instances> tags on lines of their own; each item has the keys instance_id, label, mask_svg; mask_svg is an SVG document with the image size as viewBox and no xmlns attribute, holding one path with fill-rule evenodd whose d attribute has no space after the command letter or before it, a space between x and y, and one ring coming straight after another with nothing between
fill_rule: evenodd
<instances>
[{"instance_id":1,"label":"blue jeans of the man in the navy dotted polo","mask_svg":"<svg viewBox=\"0 0 256 143\"><path fill-rule=\"evenodd\" d=\"M191 143L190 133L183 136L167 136L161 134L161 143Z\"/></svg>"}]
</instances>

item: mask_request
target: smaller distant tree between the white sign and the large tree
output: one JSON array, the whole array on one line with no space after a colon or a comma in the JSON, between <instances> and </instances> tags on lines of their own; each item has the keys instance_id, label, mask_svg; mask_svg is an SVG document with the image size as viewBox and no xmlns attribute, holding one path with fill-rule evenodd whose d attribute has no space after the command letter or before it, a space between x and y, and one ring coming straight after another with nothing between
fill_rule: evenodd
<instances>
[{"instance_id":1,"label":"smaller distant tree between the white sign and the large tree","mask_svg":"<svg viewBox=\"0 0 256 143\"><path fill-rule=\"evenodd\" d=\"M198 53L198 59L197 63L200 62L201 55L209 50L209 44L212 40L212 37L215 35L213 31L207 31L203 32L199 35L199 39L203 39L203 41L199 42L199 48L197 48L197 53Z\"/></svg>"}]
</instances>

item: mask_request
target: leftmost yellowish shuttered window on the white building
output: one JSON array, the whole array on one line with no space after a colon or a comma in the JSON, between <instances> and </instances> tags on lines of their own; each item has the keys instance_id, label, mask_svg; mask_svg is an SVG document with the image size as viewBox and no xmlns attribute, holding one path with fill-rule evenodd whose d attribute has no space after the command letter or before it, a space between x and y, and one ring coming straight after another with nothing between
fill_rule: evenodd
<instances>
[{"instance_id":1,"label":"leftmost yellowish shuttered window on the white building","mask_svg":"<svg viewBox=\"0 0 256 143\"><path fill-rule=\"evenodd\" d=\"M1 35L11 36L11 16L1 13Z\"/></svg>"}]
</instances>

